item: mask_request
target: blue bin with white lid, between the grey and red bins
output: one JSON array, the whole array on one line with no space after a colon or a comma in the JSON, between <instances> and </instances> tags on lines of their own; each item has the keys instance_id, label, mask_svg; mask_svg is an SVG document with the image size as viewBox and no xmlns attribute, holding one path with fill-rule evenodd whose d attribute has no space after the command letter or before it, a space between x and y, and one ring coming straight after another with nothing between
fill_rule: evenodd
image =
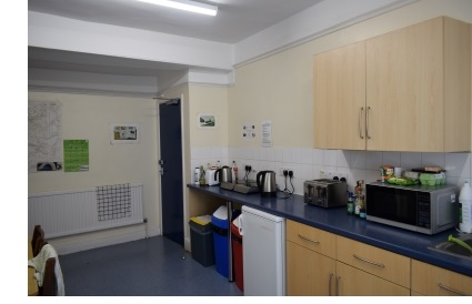
<instances>
[{"instance_id":1,"label":"blue bin with white lid, between the grey and red bins","mask_svg":"<svg viewBox=\"0 0 472 304\"><path fill-rule=\"evenodd\" d=\"M228 207L220 206L211 215L211 224L213 227L214 261L217 272L224 277L229 277L229 259L228 259Z\"/></svg>"}]
</instances>

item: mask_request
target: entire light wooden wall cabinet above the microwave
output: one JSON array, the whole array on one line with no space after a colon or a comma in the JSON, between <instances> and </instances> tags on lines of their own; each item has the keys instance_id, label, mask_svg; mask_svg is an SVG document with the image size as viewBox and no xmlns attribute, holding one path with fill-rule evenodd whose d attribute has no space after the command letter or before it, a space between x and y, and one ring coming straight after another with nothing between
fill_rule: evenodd
<instances>
[{"instance_id":1,"label":"entire light wooden wall cabinet above the microwave","mask_svg":"<svg viewBox=\"0 0 472 304\"><path fill-rule=\"evenodd\" d=\"M439 17L317 54L314 111L315 148L471 151L471 24Z\"/></svg>"}]
</instances>

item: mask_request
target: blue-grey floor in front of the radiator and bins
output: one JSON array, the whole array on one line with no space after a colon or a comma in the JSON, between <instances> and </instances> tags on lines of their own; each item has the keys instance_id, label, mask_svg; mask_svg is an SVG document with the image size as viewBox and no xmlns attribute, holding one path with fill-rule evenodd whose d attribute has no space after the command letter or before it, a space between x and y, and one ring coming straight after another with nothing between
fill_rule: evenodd
<instances>
[{"instance_id":1,"label":"blue-grey floor in front of the radiator and bins","mask_svg":"<svg viewBox=\"0 0 472 304\"><path fill-rule=\"evenodd\" d=\"M60 255L68 296L240 296L243 293L163 236Z\"/></svg>"}]
</instances>

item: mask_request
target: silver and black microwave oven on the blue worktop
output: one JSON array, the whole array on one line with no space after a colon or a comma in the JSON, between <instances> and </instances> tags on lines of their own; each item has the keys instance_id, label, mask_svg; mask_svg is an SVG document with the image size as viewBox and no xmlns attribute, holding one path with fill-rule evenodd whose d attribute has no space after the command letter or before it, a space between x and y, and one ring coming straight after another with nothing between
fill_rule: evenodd
<instances>
[{"instance_id":1,"label":"silver and black microwave oven on the blue worktop","mask_svg":"<svg viewBox=\"0 0 472 304\"><path fill-rule=\"evenodd\" d=\"M459 222L459 188L401 186L382 182L365 185L365 219L424 234L436 234Z\"/></svg>"}]
</instances>

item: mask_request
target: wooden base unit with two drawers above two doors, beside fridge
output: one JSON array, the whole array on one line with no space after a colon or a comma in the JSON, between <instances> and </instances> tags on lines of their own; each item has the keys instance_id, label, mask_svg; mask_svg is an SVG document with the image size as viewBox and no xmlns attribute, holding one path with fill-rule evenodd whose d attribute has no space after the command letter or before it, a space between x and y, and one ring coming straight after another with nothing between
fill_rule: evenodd
<instances>
[{"instance_id":1,"label":"wooden base unit with two drawers above two doors, beside fridge","mask_svg":"<svg viewBox=\"0 0 472 304\"><path fill-rule=\"evenodd\" d=\"M290 220L285 233L288 295L410 295L409 257Z\"/></svg>"}]
</instances>

